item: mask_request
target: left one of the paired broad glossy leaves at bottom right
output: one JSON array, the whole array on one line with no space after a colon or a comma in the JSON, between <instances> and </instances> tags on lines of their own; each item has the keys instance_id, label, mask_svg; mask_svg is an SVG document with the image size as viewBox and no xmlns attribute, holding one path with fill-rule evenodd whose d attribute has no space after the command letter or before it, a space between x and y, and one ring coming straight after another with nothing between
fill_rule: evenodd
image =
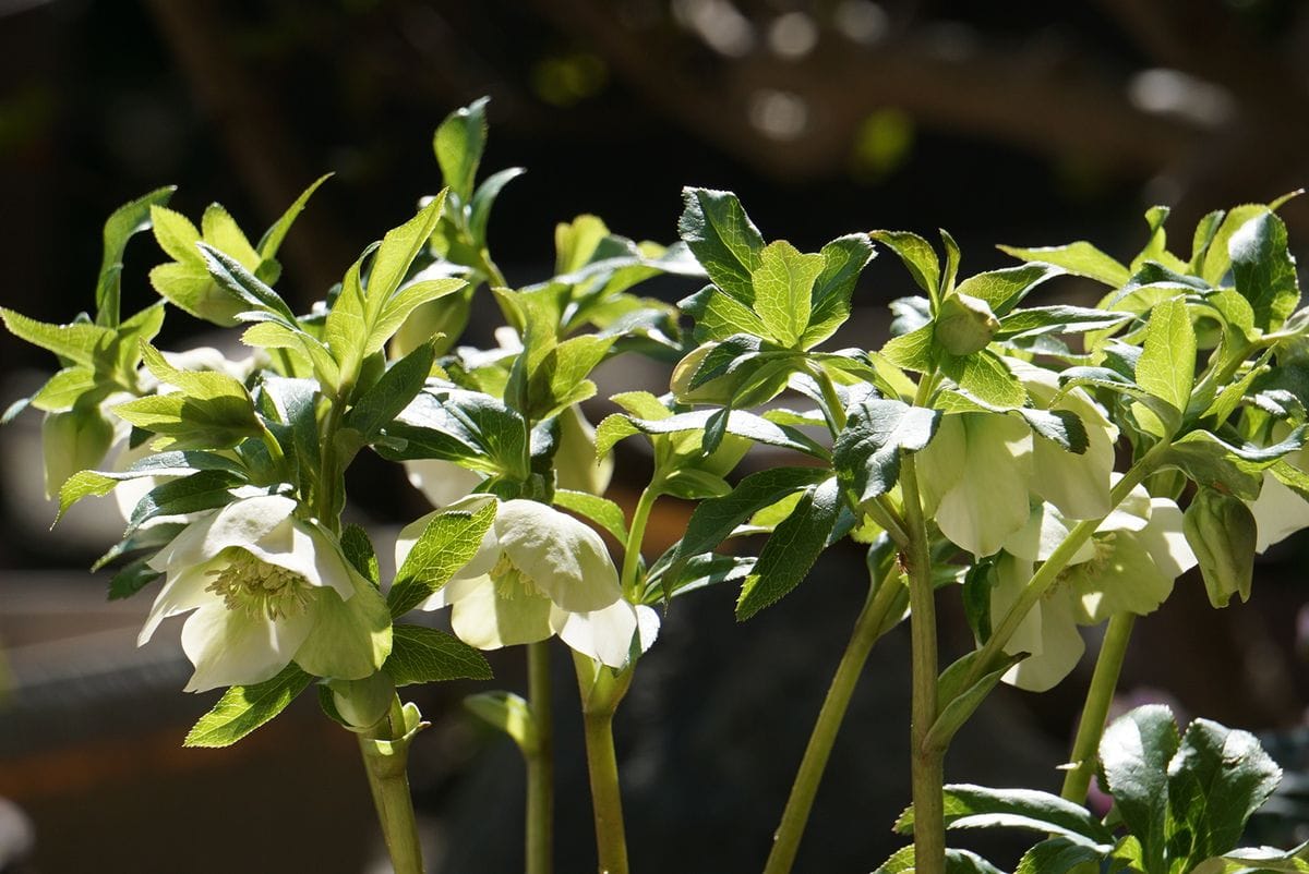
<instances>
[{"instance_id":1,"label":"left one of the paired broad glossy leaves at bottom right","mask_svg":"<svg viewBox=\"0 0 1309 874\"><path fill-rule=\"evenodd\" d=\"M1168 840L1168 763L1181 738L1173 712L1139 707L1114 720L1100 741L1100 760L1114 807L1140 841L1145 870L1162 870Z\"/></svg>"}]
</instances>

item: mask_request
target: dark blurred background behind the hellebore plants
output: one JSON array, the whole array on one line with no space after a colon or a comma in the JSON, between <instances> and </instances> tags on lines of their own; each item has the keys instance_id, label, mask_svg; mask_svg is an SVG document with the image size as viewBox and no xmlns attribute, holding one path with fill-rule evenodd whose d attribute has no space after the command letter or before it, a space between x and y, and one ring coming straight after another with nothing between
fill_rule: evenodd
<instances>
[{"instance_id":1,"label":"dark blurred background behind the hellebore plants","mask_svg":"<svg viewBox=\"0 0 1309 874\"><path fill-rule=\"evenodd\" d=\"M216 200L257 234L332 171L281 254L279 288L305 309L435 192L432 132L483 94L483 173L529 170L491 226L516 284L548 275L554 224L579 213L670 242L683 184L736 191L766 238L802 249L944 226L966 272L1004 264L995 243L1084 238L1130 256L1152 203L1173 207L1185 251L1204 212L1309 178L1309 4L0 0L0 304L50 322L88 307L105 217L161 184L179 186L171 205L185 215ZM1309 239L1306 200L1282 211L1293 242ZM160 259L148 234L131 243L124 306L153 300L145 275ZM839 344L876 348L885 304L912 290L878 258ZM162 348L207 341L185 317L165 331ZM54 369L8 335L0 361L5 403ZM666 381L658 366L622 366L607 372L614 391ZM47 531L38 436L34 412L0 433L0 870L386 870L353 741L308 697L232 750L181 748L212 700L179 692L175 635L134 646L151 593L106 603L103 578L85 572L117 539L113 513L88 501ZM624 451L617 497L634 501L644 459ZM424 512L399 471L356 468L361 521L385 533ZM662 517L665 543L681 518ZM1309 837L1306 546L1266 556L1255 597L1225 611L1183 578L1140 624L1123 680L1179 716L1280 744L1282 816L1257 827L1283 844ZM637 870L762 866L863 586L857 552L836 550L785 611L747 625L730 591L674 606L618 722ZM945 646L962 653L957 614ZM559 861L586 870L580 730L556 656ZM907 636L874 650L797 871L867 871L898 844L906 666ZM521 688L517 654L495 667L499 687ZM1041 697L996 693L957 742L950 777L1056 786L1089 667ZM470 691L420 695L435 724L414 748L429 867L520 870L521 768L508 741L461 714ZM994 852L1003 864L1009 850Z\"/></svg>"}]
</instances>

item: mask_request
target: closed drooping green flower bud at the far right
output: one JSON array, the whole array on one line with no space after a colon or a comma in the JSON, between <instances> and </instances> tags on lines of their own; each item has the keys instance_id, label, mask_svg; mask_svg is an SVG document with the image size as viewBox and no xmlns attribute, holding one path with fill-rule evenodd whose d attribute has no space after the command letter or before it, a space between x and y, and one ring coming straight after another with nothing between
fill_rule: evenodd
<instances>
[{"instance_id":1,"label":"closed drooping green flower bud at the far right","mask_svg":"<svg viewBox=\"0 0 1309 874\"><path fill-rule=\"evenodd\" d=\"M1227 607L1233 593L1250 598L1255 522L1240 498L1200 487L1182 519L1186 539L1200 563L1210 603Z\"/></svg>"}]
</instances>

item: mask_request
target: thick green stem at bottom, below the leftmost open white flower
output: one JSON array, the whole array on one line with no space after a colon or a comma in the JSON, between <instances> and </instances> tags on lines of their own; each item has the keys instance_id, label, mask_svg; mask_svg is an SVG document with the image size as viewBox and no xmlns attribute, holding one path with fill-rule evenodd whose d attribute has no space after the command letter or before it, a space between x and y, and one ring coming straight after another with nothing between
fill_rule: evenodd
<instances>
[{"instance_id":1,"label":"thick green stem at bottom, below the leftmost open white flower","mask_svg":"<svg viewBox=\"0 0 1309 874\"><path fill-rule=\"evenodd\" d=\"M387 718L370 734L359 735L359 750L395 874L423 874L423 850L406 772L408 741L404 735L404 714L397 697Z\"/></svg>"}]
</instances>

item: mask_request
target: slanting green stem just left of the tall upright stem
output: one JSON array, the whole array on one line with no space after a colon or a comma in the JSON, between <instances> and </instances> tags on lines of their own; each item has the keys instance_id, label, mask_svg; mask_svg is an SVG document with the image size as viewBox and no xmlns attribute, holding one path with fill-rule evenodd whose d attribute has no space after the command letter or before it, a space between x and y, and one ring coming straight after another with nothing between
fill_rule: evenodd
<instances>
[{"instance_id":1,"label":"slanting green stem just left of the tall upright stem","mask_svg":"<svg viewBox=\"0 0 1309 874\"><path fill-rule=\"evenodd\" d=\"M831 678L827 697L823 699L818 720L809 735L809 744L805 747L804 759L796 771L791 797L787 798L787 806L781 811L781 822L772 836L772 850L768 853L768 862L763 869L764 874L787 874L796 861L800 839L809 822L809 813L813 810L818 785L827 768L833 744L836 742L836 733L846 718L850 699L855 693L855 684L864 671L873 644L888 629L888 620L901 591L898 574L899 568L893 565L891 572L881 581L881 585L874 581L868 586L864 608L860 611L859 619L855 620L855 631L850 636L850 644L846 645L836 673Z\"/></svg>"}]
</instances>

